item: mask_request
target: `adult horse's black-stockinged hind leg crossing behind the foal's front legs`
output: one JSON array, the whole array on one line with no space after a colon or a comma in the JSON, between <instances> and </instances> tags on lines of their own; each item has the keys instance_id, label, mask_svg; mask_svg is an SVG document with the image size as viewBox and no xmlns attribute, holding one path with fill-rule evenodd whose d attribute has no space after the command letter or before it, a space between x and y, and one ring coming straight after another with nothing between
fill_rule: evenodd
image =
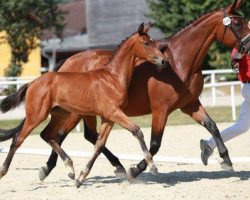
<instances>
[{"instance_id":1,"label":"adult horse's black-stockinged hind leg crossing behind the foal's front legs","mask_svg":"<svg viewBox=\"0 0 250 200\"><path fill-rule=\"evenodd\" d=\"M86 140L95 145L99 136L96 130L97 122L95 116L84 116L84 137ZM106 147L103 147L102 153L106 156L109 162L116 167L114 171L115 175L119 178L125 178L127 176L126 170L120 163L119 159L112 154Z\"/></svg>"}]
</instances>

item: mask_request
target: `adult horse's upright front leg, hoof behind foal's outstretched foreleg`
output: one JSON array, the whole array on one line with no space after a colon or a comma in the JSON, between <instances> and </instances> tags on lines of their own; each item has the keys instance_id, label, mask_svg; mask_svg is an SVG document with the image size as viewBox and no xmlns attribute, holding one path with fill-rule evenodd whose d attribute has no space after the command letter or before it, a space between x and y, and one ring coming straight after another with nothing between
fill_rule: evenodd
<instances>
[{"instance_id":1,"label":"adult horse's upright front leg, hoof behind foal's outstretched foreleg","mask_svg":"<svg viewBox=\"0 0 250 200\"><path fill-rule=\"evenodd\" d=\"M154 111L152 113L152 130L151 130L151 140L150 140L150 150L149 152L154 156L160 149L163 132L168 118L168 112L164 111ZM142 160L136 167L129 169L128 173L131 177L137 177L140 173L145 171L147 168L147 163Z\"/></svg>"}]
</instances>

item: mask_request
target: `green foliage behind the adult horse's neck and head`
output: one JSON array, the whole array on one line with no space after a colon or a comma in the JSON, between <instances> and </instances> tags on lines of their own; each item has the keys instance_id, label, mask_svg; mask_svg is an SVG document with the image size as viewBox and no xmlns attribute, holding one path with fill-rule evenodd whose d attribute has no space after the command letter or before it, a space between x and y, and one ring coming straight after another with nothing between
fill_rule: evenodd
<instances>
[{"instance_id":1,"label":"green foliage behind the adult horse's neck and head","mask_svg":"<svg viewBox=\"0 0 250 200\"><path fill-rule=\"evenodd\" d=\"M147 2L150 8L148 16L166 36L171 36L174 30L178 30L190 20L194 20L204 12L226 7L230 2L233 3L233 0L147 0ZM240 10L240 13L248 19L249 8L250 1L245 1ZM228 68L230 51L230 48L219 43L213 44L204 60L203 69Z\"/></svg>"}]
</instances>

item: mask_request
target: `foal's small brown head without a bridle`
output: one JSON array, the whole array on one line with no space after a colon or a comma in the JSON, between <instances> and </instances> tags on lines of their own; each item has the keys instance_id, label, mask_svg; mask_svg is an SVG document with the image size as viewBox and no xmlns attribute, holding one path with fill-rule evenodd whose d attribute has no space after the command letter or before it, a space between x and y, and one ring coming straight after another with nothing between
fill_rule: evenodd
<instances>
[{"instance_id":1,"label":"foal's small brown head without a bridle","mask_svg":"<svg viewBox=\"0 0 250 200\"><path fill-rule=\"evenodd\" d=\"M147 34L150 24L142 23L136 34L134 34L134 53L135 56L156 64L158 69L168 65L168 59L157 48L155 41Z\"/></svg>"}]
</instances>

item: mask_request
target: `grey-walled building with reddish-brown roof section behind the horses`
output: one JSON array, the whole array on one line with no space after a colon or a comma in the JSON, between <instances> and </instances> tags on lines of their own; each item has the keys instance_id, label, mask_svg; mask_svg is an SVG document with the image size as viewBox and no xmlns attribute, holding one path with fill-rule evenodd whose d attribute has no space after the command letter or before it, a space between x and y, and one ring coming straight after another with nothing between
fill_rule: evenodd
<instances>
[{"instance_id":1,"label":"grey-walled building with reddish-brown roof section behind the horses","mask_svg":"<svg viewBox=\"0 0 250 200\"><path fill-rule=\"evenodd\" d=\"M46 33L42 43L45 71L79 51L114 49L142 22L150 21L145 16L149 11L146 0L82 0L62 4L60 8L68 12L64 40L49 38L50 34ZM150 30L149 34L154 39L163 38L158 29Z\"/></svg>"}]
</instances>

